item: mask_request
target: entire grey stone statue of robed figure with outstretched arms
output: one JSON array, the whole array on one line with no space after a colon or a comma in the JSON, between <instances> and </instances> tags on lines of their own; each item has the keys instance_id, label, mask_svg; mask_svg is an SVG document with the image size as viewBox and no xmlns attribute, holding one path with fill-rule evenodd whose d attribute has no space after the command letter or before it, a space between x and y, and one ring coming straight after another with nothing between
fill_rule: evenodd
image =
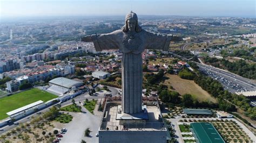
<instances>
[{"instance_id":1,"label":"entire grey stone statue of robed figure with outstretched arms","mask_svg":"<svg viewBox=\"0 0 256 143\"><path fill-rule=\"evenodd\" d=\"M96 51L119 49L122 58L122 112L129 115L142 112L142 53L144 49L168 51L170 41L181 41L173 35L147 32L138 25L136 13L127 13L121 30L93 34L81 41L93 42Z\"/></svg>"}]
</instances>

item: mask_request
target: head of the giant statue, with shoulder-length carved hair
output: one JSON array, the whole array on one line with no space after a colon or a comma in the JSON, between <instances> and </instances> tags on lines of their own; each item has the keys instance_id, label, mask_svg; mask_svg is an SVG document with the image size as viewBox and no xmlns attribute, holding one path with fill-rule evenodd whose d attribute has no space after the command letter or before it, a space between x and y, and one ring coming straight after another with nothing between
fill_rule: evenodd
<instances>
[{"instance_id":1,"label":"head of the giant statue, with shoulder-length carved hair","mask_svg":"<svg viewBox=\"0 0 256 143\"><path fill-rule=\"evenodd\" d=\"M142 31L142 27L139 26L138 24L138 17L136 15L136 13L134 12L130 12L127 13L127 15L125 16L125 25L122 27L123 32L127 32L127 31L136 31L136 32L140 32Z\"/></svg>"}]
</instances>

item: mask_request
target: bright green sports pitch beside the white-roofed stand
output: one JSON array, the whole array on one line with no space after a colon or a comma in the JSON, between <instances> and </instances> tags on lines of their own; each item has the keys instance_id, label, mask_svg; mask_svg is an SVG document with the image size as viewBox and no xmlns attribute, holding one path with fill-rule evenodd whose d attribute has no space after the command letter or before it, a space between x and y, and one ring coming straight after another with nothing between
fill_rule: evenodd
<instances>
[{"instance_id":1,"label":"bright green sports pitch beside the white-roofed stand","mask_svg":"<svg viewBox=\"0 0 256 143\"><path fill-rule=\"evenodd\" d=\"M49 92L33 88L19 92L18 94L0 98L0 120L8 117L6 112L10 112L39 100L46 102L57 97L58 96L50 94Z\"/></svg>"}]
</instances>

